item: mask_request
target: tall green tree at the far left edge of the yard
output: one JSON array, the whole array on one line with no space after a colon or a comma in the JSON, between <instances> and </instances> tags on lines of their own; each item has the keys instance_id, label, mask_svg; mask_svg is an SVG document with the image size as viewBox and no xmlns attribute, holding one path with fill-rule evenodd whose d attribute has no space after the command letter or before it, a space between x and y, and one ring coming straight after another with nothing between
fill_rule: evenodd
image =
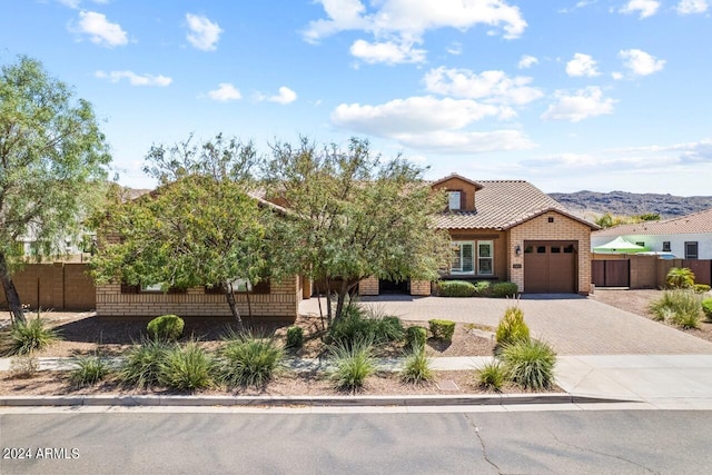
<instances>
[{"instance_id":1,"label":"tall green tree at the far left edge of the yard","mask_svg":"<svg viewBox=\"0 0 712 475\"><path fill-rule=\"evenodd\" d=\"M38 256L63 254L97 202L111 161L91 105L20 57L0 71L0 280L16 323L24 323L12 275L22 266L18 239Z\"/></svg>"}]
</instances>

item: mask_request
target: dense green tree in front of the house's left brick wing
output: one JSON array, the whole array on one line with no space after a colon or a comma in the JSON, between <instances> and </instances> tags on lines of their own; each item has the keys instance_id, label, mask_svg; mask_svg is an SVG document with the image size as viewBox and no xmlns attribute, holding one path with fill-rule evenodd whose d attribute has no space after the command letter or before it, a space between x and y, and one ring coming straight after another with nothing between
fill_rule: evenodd
<instances>
[{"instance_id":1,"label":"dense green tree in front of the house's left brick wing","mask_svg":"<svg viewBox=\"0 0 712 475\"><path fill-rule=\"evenodd\" d=\"M99 283L220 288L241 326L234 283L266 276L266 235L273 211L248 195L256 155L250 144L221 135L155 146L145 170L160 182L105 214L93 276Z\"/></svg>"}]
</instances>

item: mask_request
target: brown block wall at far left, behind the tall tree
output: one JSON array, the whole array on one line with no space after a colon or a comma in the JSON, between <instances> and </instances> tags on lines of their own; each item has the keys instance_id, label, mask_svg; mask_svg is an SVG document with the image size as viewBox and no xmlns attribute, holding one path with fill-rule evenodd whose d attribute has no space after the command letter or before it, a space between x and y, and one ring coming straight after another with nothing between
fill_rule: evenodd
<instances>
[{"instance_id":1,"label":"brown block wall at far left, behind the tall tree","mask_svg":"<svg viewBox=\"0 0 712 475\"><path fill-rule=\"evenodd\" d=\"M55 310L91 310L96 306L93 280L86 264L28 264L12 276L22 304ZM38 300L39 297L39 300ZM0 306L7 308L4 293Z\"/></svg>"}]
</instances>

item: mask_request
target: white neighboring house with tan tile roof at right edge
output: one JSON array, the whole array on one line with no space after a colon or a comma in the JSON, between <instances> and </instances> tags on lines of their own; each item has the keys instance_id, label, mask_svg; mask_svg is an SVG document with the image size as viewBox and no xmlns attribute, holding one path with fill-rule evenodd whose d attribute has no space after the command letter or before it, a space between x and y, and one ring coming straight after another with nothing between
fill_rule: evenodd
<instances>
[{"instance_id":1,"label":"white neighboring house with tan tile roof at right edge","mask_svg":"<svg viewBox=\"0 0 712 475\"><path fill-rule=\"evenodd\" d=\"M601 229L591 235L591 247L616 237L651 251L672 253L680 259L712 259L712 208L680 218Z\"/></svg>"}]
</instances>

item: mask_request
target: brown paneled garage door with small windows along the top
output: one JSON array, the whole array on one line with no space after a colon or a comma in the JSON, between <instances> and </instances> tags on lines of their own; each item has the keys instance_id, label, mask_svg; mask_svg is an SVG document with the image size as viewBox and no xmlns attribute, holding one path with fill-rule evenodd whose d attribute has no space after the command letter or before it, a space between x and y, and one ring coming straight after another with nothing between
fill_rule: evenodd
<instances>
[{"instance_id":1,"label":"brown paneled garage door with small windows along the top","mask_svg":"<svg viewBox=\"0 0 712 475\"><path fill-rule=\"evenodd\" d=\"M524 291L575 293L576 245L575 241L524 241Z\"/></svg>"}]
</instances>

